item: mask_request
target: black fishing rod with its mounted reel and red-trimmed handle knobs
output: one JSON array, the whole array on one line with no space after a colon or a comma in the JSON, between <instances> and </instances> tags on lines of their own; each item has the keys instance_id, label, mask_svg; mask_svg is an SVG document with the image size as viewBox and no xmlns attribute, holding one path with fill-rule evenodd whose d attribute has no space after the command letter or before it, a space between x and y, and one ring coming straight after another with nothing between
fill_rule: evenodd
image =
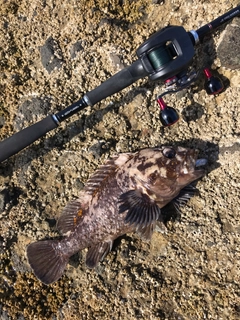
<instances>
[{"instance_id":1,"label":"black fishing rod with its mounted reel and red-trimmed handle knobs","mask_svg":"<svg viewBox=\"0 0 240 320\"><path fill-rule=\"evenodd\" d=\"M174 108L166 105L163 96L189 87L196 80L197 72L189 71L195 54L194 45L202 41L206 34L239 14L240 6L237 6L198 30L187 32L181 26L168 26L157 31L140 45L136 52L138 59L130 66L87 92L80 100L66 109L49 115L1 141L0 162L57 128L61 122L85 107L95 105L146 76L150 80L160 80L165 83L166 91L157 97L160 106L160 121L164 126L173 125L179 116ZM204 69L204 73L208 83L207 92L209 94L220 92L223 89L220 79L213 77L208 68Z\"/></svg>"}]
</instances>

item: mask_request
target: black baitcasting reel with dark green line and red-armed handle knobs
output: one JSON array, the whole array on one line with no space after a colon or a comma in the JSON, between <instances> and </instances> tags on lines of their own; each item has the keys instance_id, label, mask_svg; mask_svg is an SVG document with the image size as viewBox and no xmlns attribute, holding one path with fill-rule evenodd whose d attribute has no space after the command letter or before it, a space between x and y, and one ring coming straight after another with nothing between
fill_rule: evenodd
<instances>
[{"instance_id":1,"label":"black baitcasting reel with dark green line and red-armed handle knobs","mask_svg":"<svg viewBox=\"0 0 240 320\"><path fill-rule=\"evenodd\" d=\"M161 110L160 121L164 126L173 125L179 116L174 108L166 105L163 96L183 90L196 80L198 73L188 70L194 56L193 45L197 44L219 19L197 31L186 32L183 27L166 27L153 34L138 48L137 55L148 72L149 79L165 83L165 92L157 97ZM221 92L223 90L221 80L213 77L208 68L204 69L204 73L207 79L205 84L207 93Z\"/></svg>"}]
</instances>

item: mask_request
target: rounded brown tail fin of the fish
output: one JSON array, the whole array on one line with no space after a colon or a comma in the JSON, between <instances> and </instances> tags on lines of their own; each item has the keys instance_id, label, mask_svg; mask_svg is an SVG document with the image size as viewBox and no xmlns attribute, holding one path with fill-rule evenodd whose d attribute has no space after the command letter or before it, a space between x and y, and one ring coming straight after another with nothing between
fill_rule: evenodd
<instances>
[{"instance_id":1,"label":"rounded brown tail fin of the fish","mask_svg":"<svg viewBox=\"0 0 240 320\"><path fill-rule=\"evenodd\" d=\"M57 281L68 263L68 256L61 252L59 242L45 240L27 247L28 262L36 277L45 284Z\"/></svg>"}]
</instances>

